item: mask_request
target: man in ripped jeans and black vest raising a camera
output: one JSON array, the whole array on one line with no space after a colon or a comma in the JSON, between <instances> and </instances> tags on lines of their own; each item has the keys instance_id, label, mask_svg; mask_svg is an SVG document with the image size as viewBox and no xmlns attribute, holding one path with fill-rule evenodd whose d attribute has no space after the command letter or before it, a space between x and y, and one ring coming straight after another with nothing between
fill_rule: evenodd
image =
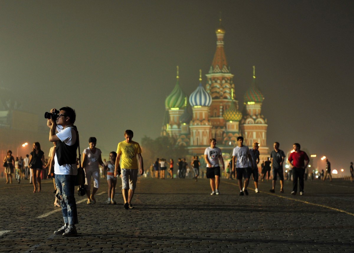
<instances>
[{"instance_id":1,"label":"man in ripped jeans and black vest raising a camera","mask_svg":"<svg viewBox=\"0 0 354 253\"><path fill-rule=\"evenodd\" d=\"M78 132L74 122L75 110L62 107L46 113L47 126L50 127L49 141L57 141L54 156L55 184L58 189L57 197L60 201L64 219L63 227L54 231L54 234L76 236L75 224L78 223L78 213L74 197L75 176L78 174L76 166L76 150L79 145ZM56 133L57 131L57 133Z\"/></svg>"}]
</instances>

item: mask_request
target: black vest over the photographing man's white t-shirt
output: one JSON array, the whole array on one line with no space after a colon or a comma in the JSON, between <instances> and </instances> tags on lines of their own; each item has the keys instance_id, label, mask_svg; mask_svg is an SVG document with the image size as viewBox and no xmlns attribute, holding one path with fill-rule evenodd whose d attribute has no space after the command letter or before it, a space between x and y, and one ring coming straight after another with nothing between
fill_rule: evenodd
<instances>
[{"instance_id":1,"label":"black vest over the photographing man's white t-shirt","mask_svg":"<svg viewBox=\"0 0 354 253\"><path fill-rule=\"evenodd\" d=\"M58 164L62 166L63 164L76 164L76 149L78 149L79 142L78 142L78 129L76 126L72 126L75 128L76 131L76 141L75 144L69 146L62 141L57 142L57 146L55 148L55 153L57 155Z\"/></svg>"}]
</instances>

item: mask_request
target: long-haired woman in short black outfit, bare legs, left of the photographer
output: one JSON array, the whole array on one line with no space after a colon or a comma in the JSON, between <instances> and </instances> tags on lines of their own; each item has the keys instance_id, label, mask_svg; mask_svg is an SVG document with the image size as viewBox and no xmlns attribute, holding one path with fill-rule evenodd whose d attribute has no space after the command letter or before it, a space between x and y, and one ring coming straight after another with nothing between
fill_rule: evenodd
<instances>
[{"instance_id":1,"label":"long-haired woman in short black outfit, bare legs, left of the photographer","mask_svg":"<svg viewBox=\"0 0 354 253\"><path fill-rule=\"evenodd\" d=\"M32 181L34 190L33 193L37 192L37 182L38 182L38 192L41 191L41 171L44 169L44 152L41 150L41 145L39 142L33 143L33 151L31 152L29 158L29 164L32 171Z\"/></svg>"}]
</instances>

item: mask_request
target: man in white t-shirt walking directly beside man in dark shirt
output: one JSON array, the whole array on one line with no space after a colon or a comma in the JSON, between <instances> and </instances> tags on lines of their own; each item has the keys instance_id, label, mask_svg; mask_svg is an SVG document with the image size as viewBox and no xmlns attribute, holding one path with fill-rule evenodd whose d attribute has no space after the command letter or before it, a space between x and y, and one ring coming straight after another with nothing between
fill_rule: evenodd
<instances>
[{"instance_id":1,"label":"man in white t-shirt walking directly beside man in dark shirt","mask_svg":"<svg viewBox=\"0 0 354 253\"><path fill-rule=\"evenodd\" d=\"M237 137L237 144L232 151L232 171L236 169L236 179L239 180L240 196L248 195L247 186L250 180L250 173L248 173L249 165L254 168L253 159L250 150L247 146L243 145L243 137ZM236 164L235 164L236 162ZM245 178L244 192L242 191L242 176Z\"/></svg>"}]
</instances>

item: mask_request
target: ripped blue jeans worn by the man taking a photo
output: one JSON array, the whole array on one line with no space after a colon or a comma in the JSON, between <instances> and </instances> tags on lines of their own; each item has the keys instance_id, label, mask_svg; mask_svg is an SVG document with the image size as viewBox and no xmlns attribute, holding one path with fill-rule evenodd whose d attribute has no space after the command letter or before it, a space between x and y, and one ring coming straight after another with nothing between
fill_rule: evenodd
<instances>
[{"instance_id":1,"label":"ripped blue jeans worn by the man taking a photo","mask_svg":"<svg viewBox=\"0 0 354 253\"><path fill-rule=\"evenodd\" d=\"M73 175L55 174L55 185L58 189L56 197L62 207L64 223L69 223L70 225L78 223L74 183L75 176Z\"/></svg>"}]
</instances>

